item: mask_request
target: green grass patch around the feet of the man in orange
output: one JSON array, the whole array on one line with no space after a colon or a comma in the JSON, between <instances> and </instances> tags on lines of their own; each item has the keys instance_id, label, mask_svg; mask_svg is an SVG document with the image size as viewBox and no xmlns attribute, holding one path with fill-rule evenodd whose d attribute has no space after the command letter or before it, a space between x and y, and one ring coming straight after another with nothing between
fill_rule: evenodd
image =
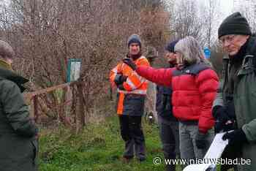
<instances>
[{"instance_id":1,"label":"green grass patch around the feet of the man in orange","mask_svg":"<svg viewBox=\"0 0 256 171\"><path fill-rule=\"evenodd\" d=\"M143 130L147 159L143 162L132 159L129 164L121 160L124 142L121 140L117 116L102 123L89 124L78 135L64 128L42 130L39 170L165 170L163 164L156 166L153 163L157 156L163 159L157 126L143 123Z\"/></svg>"}]
</instances>

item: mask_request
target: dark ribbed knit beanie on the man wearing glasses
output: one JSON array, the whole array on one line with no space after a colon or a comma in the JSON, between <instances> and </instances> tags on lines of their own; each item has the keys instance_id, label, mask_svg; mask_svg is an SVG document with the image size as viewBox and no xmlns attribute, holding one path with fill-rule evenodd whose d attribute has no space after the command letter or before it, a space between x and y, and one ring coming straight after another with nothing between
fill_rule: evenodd
<instances>
[{"instance_id":1,"label":"dark ribbed knit beanie on the man wearing glasses","mask_svg":"<svg viewBox=\"0 0 256 171\"><path fill-rule=\"evenodd\" d=\"M228 16L219 26L218 37L222 37L227 34L252 34L248 21L240 14L240 12L235 12Z\"/></svg>"}]
</instances>

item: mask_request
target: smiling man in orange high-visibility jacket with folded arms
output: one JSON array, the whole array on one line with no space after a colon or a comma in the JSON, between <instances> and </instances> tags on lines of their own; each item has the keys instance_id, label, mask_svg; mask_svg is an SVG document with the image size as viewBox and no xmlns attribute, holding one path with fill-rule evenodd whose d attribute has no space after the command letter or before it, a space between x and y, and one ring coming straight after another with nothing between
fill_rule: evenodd
<instances>
[{"instance_id":1,"label":"smiling man in orange high-visibility jacket with folded arms","mask_svg":"<svg viewBox=\"0 0 256 171\"><path fill-rule=\"evenodd\" d=\"M136 66L149 66L148 59L141 54L141 40L132 34L127 40L128 54ZM122 61L110 71L110 83L117 88L116 113L120 123L121 137L124 140L123 161L134 156L138 161L146 160L146 144L141 119L148 88L148 81L140 77Z\"/></svg>"}]
</instances>

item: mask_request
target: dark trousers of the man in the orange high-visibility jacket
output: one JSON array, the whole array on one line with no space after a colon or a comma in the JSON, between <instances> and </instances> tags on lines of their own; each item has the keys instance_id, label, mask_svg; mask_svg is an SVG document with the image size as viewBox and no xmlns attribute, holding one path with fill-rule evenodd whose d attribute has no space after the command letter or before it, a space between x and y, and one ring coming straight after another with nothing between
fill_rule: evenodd
<instances>
[{"instance_id":1,"label":"dark trousers of the man in the orange high-visibility jacket","mask_svg":"<svg viewBox=\"0 0 256 171\"><path fill-rule=\"evenodd\" d=\"M140 161L146 159L145 138L141 127L141 116L119 115L121 137L125 142L124 157L135 155Z\"/></svg>"}]
</instances>

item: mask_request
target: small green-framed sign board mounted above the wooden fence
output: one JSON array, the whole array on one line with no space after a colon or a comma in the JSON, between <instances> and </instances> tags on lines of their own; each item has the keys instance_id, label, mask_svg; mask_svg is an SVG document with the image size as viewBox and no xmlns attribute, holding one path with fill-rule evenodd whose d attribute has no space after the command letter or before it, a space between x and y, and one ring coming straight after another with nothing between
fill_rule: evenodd
<instances>
[{"instance_id":1,"label":"small green-framed sign board mounted above the wooden fence","mask_svg":"<svg viewBox=\"0 0 256 171\"><path fill-rule=\"evenodd\" d=\"M82 66L82 59L69 58L67 61L67 82L78 80L80 77L80 70Z\"/></svg>"}]
</instances>

